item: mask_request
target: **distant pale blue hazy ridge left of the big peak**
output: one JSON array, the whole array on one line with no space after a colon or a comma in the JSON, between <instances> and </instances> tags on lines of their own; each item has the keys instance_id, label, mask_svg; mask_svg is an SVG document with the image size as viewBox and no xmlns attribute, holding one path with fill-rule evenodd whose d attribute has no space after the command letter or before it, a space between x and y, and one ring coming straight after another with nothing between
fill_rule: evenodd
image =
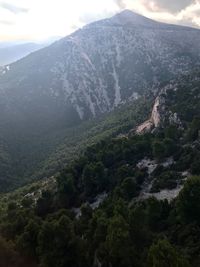
<instances>
[{"instance_id":1,"label":"distant pale blue hazy ridge left of the big peak","mask_svg":"<svg viewBox=\"0 0 200 267\"><path fill-rule=\"evenodd\" d=\"M2 45L0 46L0 66L13 63L43 47L44 45L35 43Z\"/></svg>"}]
</instances>

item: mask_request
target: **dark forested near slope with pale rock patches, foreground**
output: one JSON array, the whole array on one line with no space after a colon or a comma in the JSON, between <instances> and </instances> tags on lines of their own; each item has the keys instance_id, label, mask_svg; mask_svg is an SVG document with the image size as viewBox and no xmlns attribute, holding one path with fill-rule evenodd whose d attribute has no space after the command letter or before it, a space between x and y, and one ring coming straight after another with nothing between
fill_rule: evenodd
<instances>
[{"instance_id":1,"label":"dark forested near slope with pale rock patches, foreground","mask_svg":"<svg viewBox=\"0 0 200 267\"><path fill-rule=\"evenodd\" d=\"M198 77L161 93L163 119L152 132L102 139L45 186L3 194L0 266L199 266ZM144 159L156 162L151 172ZM147 181L149 198L142 197ZM153 195L176 188L170 201Z\"/></svg>"}]
</instances>

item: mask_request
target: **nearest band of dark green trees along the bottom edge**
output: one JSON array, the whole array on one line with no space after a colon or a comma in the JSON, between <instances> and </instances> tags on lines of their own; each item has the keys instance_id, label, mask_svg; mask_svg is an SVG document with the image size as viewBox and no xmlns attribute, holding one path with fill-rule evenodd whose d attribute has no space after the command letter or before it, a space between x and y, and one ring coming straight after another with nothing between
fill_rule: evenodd
<instances>
[{"instance_id":1,"label":"nearest band of dark green trees along the bottom edge","mask_svg":"<svg viewBox=\"0 0 200 267\"><path fill-rule=\"evenodd\" d=\"M0 263L13 266L13 259L20 259L29 266L48 267L93 266L93 262L102 266L198 266L199 216L191 216L198 211L190 205L200 195L196 184L200 177L189 179L170 204L150 198L130 206L126 196L118 197L113 191L94 211L82 206L79 217L71 209L58 209L55 196L53 209L46 208L42 214L37 210L39 199L32 208L10 202L1 217ZM188 187L193 195L187 195Z\"/></svg>"}]
</instances>

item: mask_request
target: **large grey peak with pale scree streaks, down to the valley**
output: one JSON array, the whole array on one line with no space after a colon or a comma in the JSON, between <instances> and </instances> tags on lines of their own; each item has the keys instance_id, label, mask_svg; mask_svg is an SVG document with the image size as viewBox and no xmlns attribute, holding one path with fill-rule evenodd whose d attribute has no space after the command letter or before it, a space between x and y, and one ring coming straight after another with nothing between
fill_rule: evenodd
<instances>
[{"instance_id":1,"label":"large grey peak with pale scree streaks, down to the valley","mask_svg":"<svg viewBox=\"0 0 200 267\"><path fill-rule=\"evenodd\" d=\"M69 129L154 96L163 83L197 68L199 41L197 29L125 10L2 67L2 179L20 181L26 166L42 168L49 154L65 146L59 136Z\"/></svg>"}]
</instances>

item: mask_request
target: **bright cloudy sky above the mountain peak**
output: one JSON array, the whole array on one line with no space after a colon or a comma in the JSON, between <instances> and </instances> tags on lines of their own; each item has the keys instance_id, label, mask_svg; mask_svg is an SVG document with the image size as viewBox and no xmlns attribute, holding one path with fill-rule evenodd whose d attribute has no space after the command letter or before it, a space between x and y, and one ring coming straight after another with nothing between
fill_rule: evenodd
<instances>
[{"instance_id":1,"label":"bright cloudy sky above the mountain peak","mask_svg":"<svg viewBox=\"0 0 200 267\"><path fill-rule=\"evenodd\" d=\"M0 42L66 36L124 9L200 28L200 0L0 0Z\"/></svg>"}]
</instances>

